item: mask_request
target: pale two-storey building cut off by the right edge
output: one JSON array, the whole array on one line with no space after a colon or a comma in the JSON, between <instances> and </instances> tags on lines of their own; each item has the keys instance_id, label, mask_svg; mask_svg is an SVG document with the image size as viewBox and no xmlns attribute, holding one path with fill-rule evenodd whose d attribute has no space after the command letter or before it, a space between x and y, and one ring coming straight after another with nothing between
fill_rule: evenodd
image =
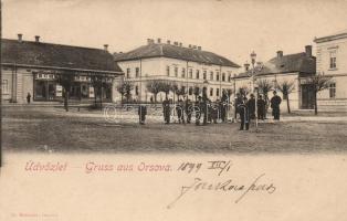
<instances>
[{"instance_id":1,"label":"pale two-storey building cut off by the right edge","mask_svg":"<svg viewBox=\"0 0 347 221\"><path fill-rule=\"evenodd\" d=\"M332 76L328 90L317 95L319 110L347 112L347 30L316 38L317 73Z\"/></svg>"}]
</instances>

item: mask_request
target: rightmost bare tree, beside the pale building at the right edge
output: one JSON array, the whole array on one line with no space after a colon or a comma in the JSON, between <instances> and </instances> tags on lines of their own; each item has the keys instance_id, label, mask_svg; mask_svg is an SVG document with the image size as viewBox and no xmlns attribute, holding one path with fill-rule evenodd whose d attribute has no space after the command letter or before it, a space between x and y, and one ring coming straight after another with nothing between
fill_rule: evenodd
<instances>
[{"instance_id":1,"label":"rightmost bare tree, beside the pale building at the right edge","mask_svg":"<svg viewBox=\"0 0 347 221\"><path fill-rule=\"evenodd\" d=\"M317 94L320 91L329 88L332 78L332 76L324 75L323 72L307 77L307 81L313 86L313 91L315 94L315 115L318 114Z\"/></svg>"}]
</instances>

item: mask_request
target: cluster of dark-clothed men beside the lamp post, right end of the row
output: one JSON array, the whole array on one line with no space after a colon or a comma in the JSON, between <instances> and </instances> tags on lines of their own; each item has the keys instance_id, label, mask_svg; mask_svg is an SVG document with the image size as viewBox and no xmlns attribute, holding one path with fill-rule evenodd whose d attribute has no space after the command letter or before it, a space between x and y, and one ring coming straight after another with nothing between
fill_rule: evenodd
<instances>
[{"instance_id":1,"label":"cluster of dark-clothed men beside the lamp post, right end of the row","mask_svg":"<svg viewBox=\"0 0 347 221\"><path fill-rule=\"evenodd\" d=\"M272 115L275 120L280 120L280 105L282 98L277 95L276 91L273 92L273 97L270 101L270 106L272 108ZM236 94L235 110L240 115L240 130L249 130L251 119L255 119L255 97L251 94L250 99L246 96ZM267 104L262 95L257 97L256 101L256 115L257 119L264 120L266 118Z\"/></svg>"}]
</instances>

